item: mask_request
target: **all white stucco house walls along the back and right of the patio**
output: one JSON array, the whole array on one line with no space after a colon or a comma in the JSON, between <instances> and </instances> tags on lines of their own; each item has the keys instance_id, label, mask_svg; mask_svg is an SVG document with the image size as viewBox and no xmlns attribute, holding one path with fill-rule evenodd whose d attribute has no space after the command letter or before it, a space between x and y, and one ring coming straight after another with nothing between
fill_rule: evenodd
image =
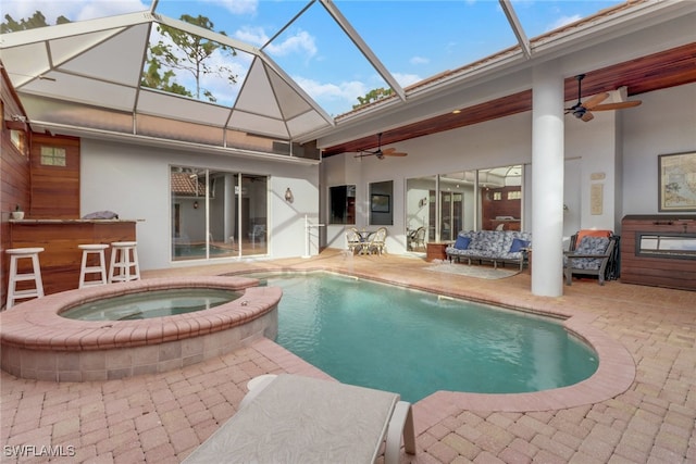
<instances>
[{"instance_id":1,"label":"all white stucco house walls along the back and right of the patio","mask_svg":"<svg viewBox=\"0 0 696 464\"><path fill-rule=\"evenodd\" d=\"M620 218L626 214L656 214L657 156L696 150L696 84L636 98L643 100L641 106L620 114L597 112L588 123L566 116L564 202L570 211L564 236L576 228L620 231ZM312 224L325 223L330 187L357 185L357 226L369 227L370 183L393 180L394 225L388 227L387 249L402 253L408 178L525 164L524 228L531 229L531 113L389 146L408 156L337 155L323 160L319 167L83 138L80 214L112 210L123 218L144 220L137 226L142 267L184 265L170 262L170 165L270 175L269 256L299 256L306 251L304 215ZM593 214L591 208L593 184L602 184L600 214ZM291 204L284 200L288 187L295 197ZM312 230L310 254L316 253L320 242L345 247L344 226Z\"/></svg>"}]
</instances>

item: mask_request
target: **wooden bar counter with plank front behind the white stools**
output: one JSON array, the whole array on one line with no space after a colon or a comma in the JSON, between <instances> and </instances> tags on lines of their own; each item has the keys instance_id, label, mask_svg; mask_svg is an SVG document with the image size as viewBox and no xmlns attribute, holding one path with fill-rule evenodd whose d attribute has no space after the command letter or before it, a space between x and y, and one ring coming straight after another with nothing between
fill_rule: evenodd
<instances>
[{"instance_id":1,"label":"wooden bar counter with plank front behind the white stools","mask_svg":"<svg viewBox=\"0 0 696 464\"><path fill-rule=\"evenodd\" d=\"M10 248L40 247L46 294L77 288L83 252L79 244L136 241L137 220L11 220ZM90 258L95 258L94 255ZM107 249L107 272L111 247ZM23 263L22 261L26 261ZM20 272L30 272L21 260Z\"/></svg>"}]
</instances>

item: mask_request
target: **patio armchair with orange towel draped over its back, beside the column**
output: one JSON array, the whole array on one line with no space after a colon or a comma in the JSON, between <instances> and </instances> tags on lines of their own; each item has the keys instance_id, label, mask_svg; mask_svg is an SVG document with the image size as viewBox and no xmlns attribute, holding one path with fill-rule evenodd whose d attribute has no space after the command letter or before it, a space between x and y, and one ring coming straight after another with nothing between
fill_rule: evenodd
<instances>
[{"instance_id":1,"label":"patio armchair with orange towel draped over its back, beside the column","mask_svg":"<svg viewBox=\"0 0 696 464\"><path fill-rule=\"evenodd\" d=\"M573 276L597 277L599 285L618 278L618 236L610 230L580 230L571 237L570 250L563 253L566 285Z\"/></svg>"}]
</instances>

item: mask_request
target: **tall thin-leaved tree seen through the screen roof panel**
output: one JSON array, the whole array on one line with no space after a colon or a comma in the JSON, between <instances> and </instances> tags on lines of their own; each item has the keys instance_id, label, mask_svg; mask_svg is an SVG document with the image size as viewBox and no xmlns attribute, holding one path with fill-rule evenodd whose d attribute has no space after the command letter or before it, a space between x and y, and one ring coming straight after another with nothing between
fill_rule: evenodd
<instances>
[{"instance_id":1,"label":"tall thin-leaved tree seen through the screen roof panel","mask_svg":"<svg viewBox=\"0 0 696 464\"><path fill-rule=\"evenodd\" d=\"M198 15L194 17L184 14L181 20L208 30L213 30L213 23L206 16ZM196 91L192 96L200 99L202 92L209 101L215 102L216 99L212 92L201 88L200 80L204 75L216 74L226 77L231 84L237 83L237 76L229 67L209 64L211 55L216 51L224 51L235 57L237 51L234 48L192 36L165 25L159 25L158 30L160 34L167 36L172 43L165 43L160 40L150 47L148 51L148 67L142 73L144 86L191 96L191 92L183 86L176 83L170 84L170 79L175 77L173 70L185 71L190 73L196 80ZM225 35L224 32L220 34ZM161 74L162 67L167 67L169 71Z\"/></svg>"}]
</instances>

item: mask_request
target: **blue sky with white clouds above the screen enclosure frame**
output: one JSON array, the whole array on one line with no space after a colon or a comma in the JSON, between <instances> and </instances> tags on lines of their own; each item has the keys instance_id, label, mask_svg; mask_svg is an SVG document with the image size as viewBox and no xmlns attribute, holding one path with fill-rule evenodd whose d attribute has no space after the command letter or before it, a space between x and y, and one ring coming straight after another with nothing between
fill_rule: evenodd
<instances>
[{"instance_id":1,"label":"blue sky with white clouds above the screen enclosure frame","mask_svg":"<svg viewBox=\"0 0 696 464\"><path fill-rule=\"evenodd\" d=\"M263 50L330 115L350 111L358 97L388 87L319 2L283 29L308 0L160 0L157 12L173 18L203 15L213 30ZM512 0L529 38L622 3L619 0ZM517 45L497 0L335 0L336 7L401 87L451 71ZM83 21L149 10L151 0L2 0L0 13L15 21L40 11L49 24L60 15ZM217 55L239 76L250 57ZM190 85L190 78L179 76ZM203 87L232 103L237 89L225 79Z\"/></svg>"}]
</instances>

